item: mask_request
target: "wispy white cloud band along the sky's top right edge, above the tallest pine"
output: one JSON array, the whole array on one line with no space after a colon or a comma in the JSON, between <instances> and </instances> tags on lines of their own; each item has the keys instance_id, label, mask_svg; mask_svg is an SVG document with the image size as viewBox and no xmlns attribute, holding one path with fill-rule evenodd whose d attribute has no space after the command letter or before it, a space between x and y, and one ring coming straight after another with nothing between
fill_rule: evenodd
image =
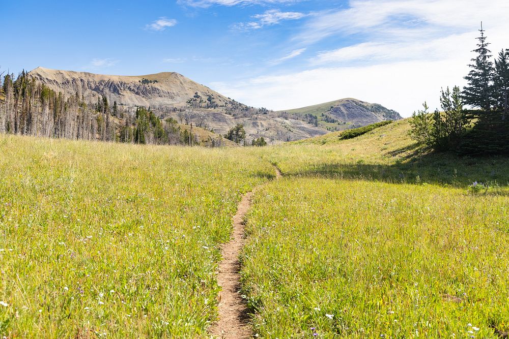
<instances>
[{"instance_id":1,"label":"wispy white cloud band along the sky's top right edge, above the tallest pine","mask_svg":"<svg viewBox=\"0 0 509 339\"><path fill-rule=\"evenodd\" d=\"M315 15L296 39L312 43L336 34L358 33L446 36L477 28L482 20L501 22L508 12L505 0L351 0L348 9Z\"/></svg>"}]
</instances>

